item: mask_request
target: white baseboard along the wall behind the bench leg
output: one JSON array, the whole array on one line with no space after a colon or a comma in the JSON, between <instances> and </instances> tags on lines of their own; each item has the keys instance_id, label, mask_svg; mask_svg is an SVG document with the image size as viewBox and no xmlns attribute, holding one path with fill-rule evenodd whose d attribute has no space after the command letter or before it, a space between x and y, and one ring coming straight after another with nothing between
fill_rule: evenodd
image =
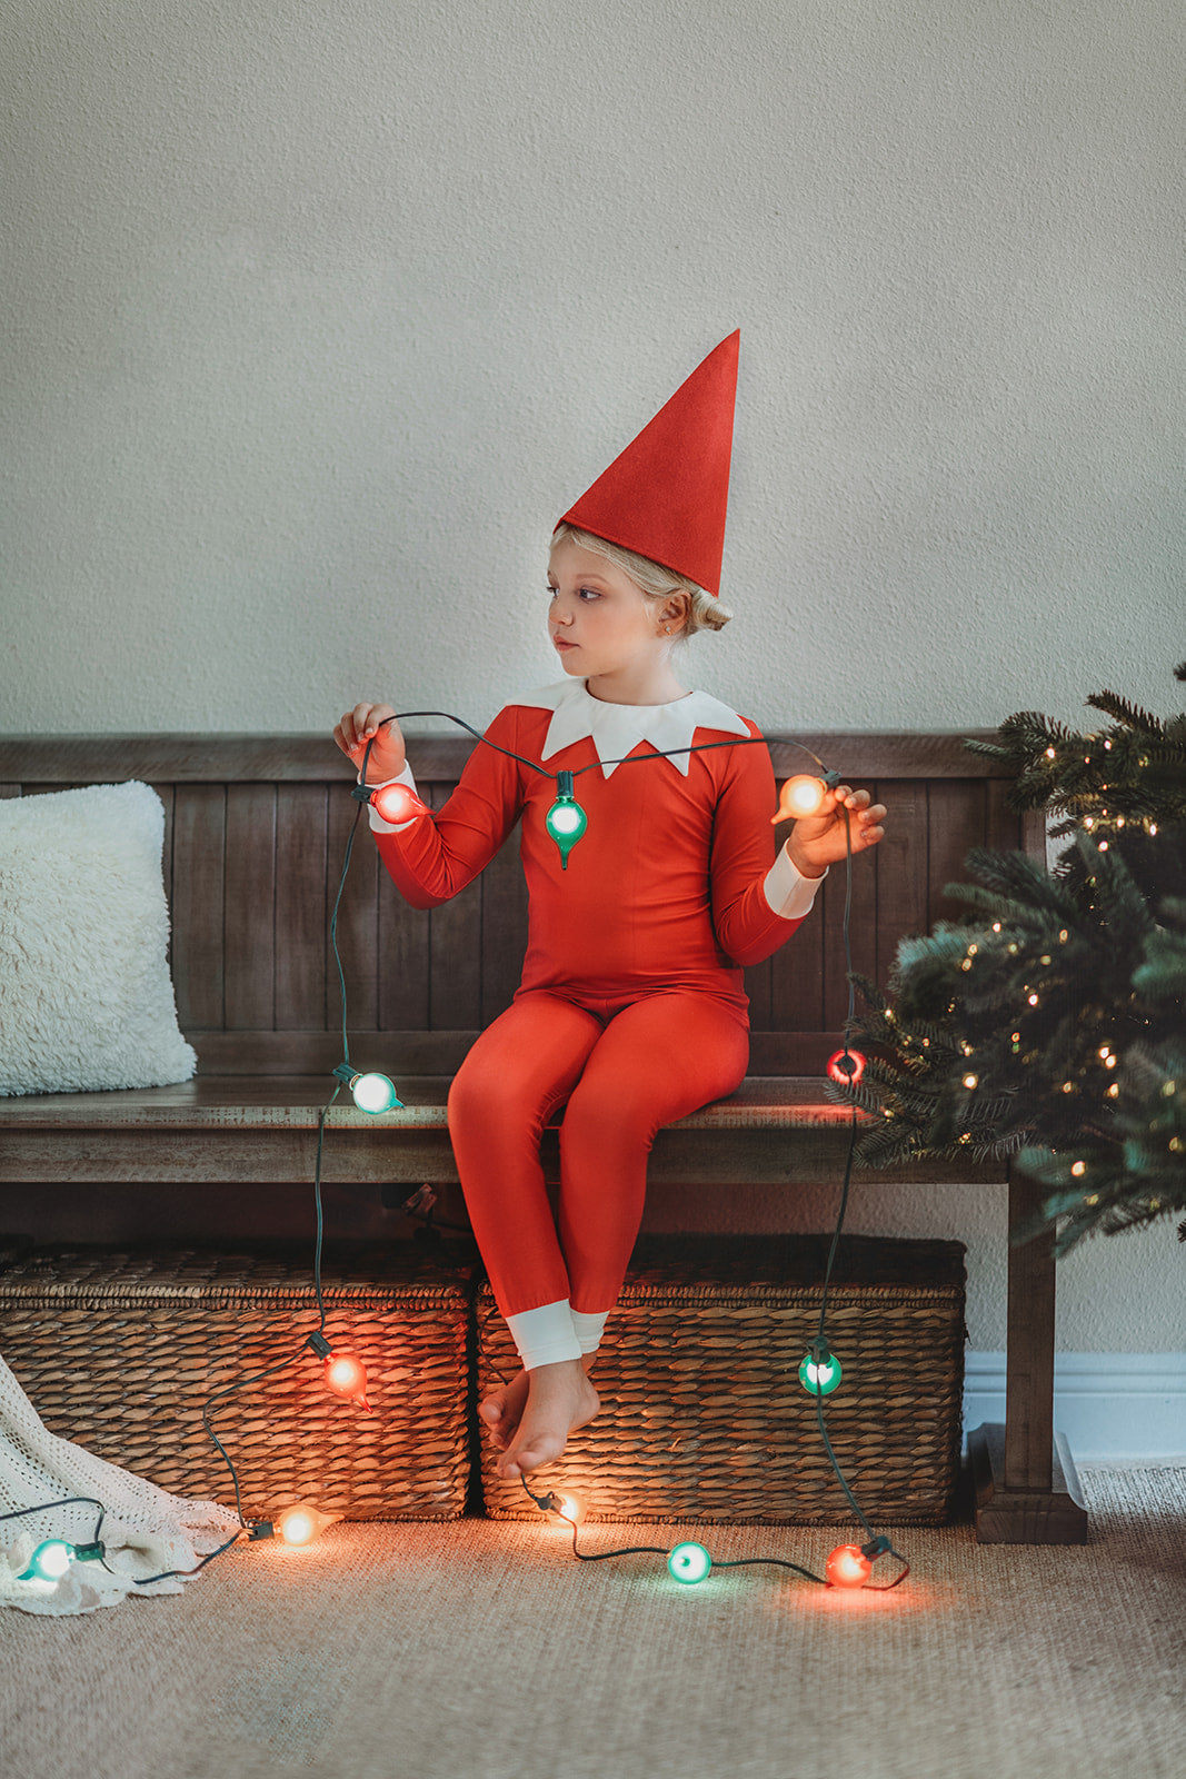
<instances>
[{"instance_id":1,"label":"white baseboard along the wall behind the bench leg","mask_svg":"<svg viewBox=\"0 0 1186 1779\"><path fill-rule=\"evenodd\" d=\"M966 1354L964 1427L1003 1420L1005 1354ZM1054 1429L1078 1464L1186 1464L1186 1354L1056 1354Z\"/></svg>"}]
</instances>

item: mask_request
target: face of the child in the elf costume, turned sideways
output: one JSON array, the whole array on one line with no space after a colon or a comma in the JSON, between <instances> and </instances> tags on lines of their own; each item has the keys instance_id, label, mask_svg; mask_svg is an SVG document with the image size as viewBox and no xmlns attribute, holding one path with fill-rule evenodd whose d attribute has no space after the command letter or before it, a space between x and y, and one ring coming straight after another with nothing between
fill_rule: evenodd
<instances>
[{"instance_id":1,"label":"face of the child in the elf costume, turned sideways","mask_svg":"<svg viewBox=\"0 0 1186 1779\"><path fill-rule=\"evenodd\" d=\"M573 678L619 672L661 651L658 608L642 587L596 550L565 537L548 566L548 635Z\"/></svg>"}]
</instances>

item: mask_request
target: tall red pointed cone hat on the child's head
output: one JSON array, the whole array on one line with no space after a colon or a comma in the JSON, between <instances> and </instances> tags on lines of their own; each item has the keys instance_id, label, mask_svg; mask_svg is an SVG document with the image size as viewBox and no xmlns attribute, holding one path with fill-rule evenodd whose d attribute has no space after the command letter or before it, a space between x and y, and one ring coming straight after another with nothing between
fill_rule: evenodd
<instances>
[{"instance_id":1,"label":"tall red pointed cone hat on the child's head","mask_svg":"<svg viewBox=\"0 0 1186 1779\"><path fill-rule=\"evenodd\" d=\"M720 594L741 334L708 354L560 523Z\"/></svg>"}]
</instances>

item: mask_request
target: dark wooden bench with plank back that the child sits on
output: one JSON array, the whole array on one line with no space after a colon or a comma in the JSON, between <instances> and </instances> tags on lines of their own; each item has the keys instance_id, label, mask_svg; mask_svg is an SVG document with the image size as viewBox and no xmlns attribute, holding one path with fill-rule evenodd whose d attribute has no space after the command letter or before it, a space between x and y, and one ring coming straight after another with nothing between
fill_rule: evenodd
<instances>
[{"instance_id":1,"label":"dark wooden bench with plank back that the child sits on","mask_svg":"<svg viewBox=\"0 0 1186 1779\"><path fill-rule=\"evenodd\" d=\"M893 813L885 841L853 873L853 966L885 980L898 939L955 914L942 888L973 845L1044 852L1040 817L1005 806L996 761L957 735L797 735ZM805 756L773 737L781 777ZM469 740L409 744L425 801L448 797ZM197 1050L196 1080L130 1092L0 1101L0 1183L311 1181L317 1128L343 1060L329 914L357 802L352 774L322 737L162 735L0 740L0 797L144 779L165 806L164 875L178 1016ZM350 1187L457 1179L446 1091L475 1035L510 1002L526 938L512 836L445 907L409 909L382 872L365 817L338 911L350 1060L391 1075L405 1101L373 1119L334 1105L324 1179ZM821 1089L848 1002L834 872L795 941L747 971L752 1075L727 1101L665 1128L651 1181L837 1181L848 1114ZM557 1174L555 1131L544 1163ZM866 1179L976 1187L1003 1163L921 1163ZM1010 1229L1035 1188L1010 1179ZM1046 1238L1008 1254L1005 1429L973 1436L978 1530L987 1541L1081 1542L1086 1517L1065 1445L1053 1439L1054 1263ZM1054 1455L1053 1455L1054 1453Z\"/></svg>"}]
</instances>

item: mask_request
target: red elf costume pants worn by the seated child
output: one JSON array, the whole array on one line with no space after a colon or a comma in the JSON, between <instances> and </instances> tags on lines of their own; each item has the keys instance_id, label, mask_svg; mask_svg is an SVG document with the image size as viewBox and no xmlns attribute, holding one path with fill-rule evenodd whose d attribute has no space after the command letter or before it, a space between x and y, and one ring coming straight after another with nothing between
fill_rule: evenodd
<instances>
[{"instance_id":1,"label":"red elf costume pants worn by the seated child","mask_svg":"<svg viewBox=\"0 0 1186 1779\"><path fill-rule=\"evenodd\" d=\"M612 1309L656 1131L734 1092L747 1062L745 1014L711 994L519 993L482 1032L448 1099L466 1208L503 1316L562 1299L589 1315ZM539 1144L562 1105L553 1217Z\"/></svg>"}]
</instances>

